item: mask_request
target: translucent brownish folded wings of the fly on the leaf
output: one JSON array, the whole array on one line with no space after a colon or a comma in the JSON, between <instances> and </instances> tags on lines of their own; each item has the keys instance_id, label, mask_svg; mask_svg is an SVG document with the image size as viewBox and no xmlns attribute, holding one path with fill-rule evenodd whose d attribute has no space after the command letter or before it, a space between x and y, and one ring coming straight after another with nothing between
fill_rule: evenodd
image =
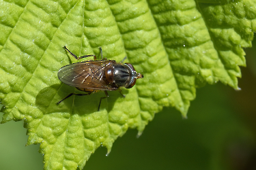
<instances>
[{"instance_id":1,"label":"translucent brownish folded wings of the fly on the leaf","mask_svg":"<svg viewBox=\"0 0 256 170\"><path fill-rule=\"evenodd\" d=\"M59 69L58 77L61 82L77 88L117 90L104 80L104 69L114 63L115 61L73 63Z\"/></svg>"}]
</instances>

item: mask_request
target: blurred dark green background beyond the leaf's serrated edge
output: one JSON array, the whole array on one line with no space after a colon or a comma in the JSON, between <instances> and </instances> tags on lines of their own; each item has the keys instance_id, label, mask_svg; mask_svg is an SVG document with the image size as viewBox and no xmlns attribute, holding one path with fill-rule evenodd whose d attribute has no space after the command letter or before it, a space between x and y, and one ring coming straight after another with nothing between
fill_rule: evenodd
<instances>
[{"instance_id":1,"label":"blurred dark green background beyond the leaf's serrated edge","mask_svg":"<svg viewBox=\"0 0 256 170\"><path fill-rule=\"evenodd\" d=\"M242 90L221 83L199 88L188 119L165 108L141 137L128 130L109 156L98 148L84 169L256 169L256 48L244 50ZM25 147L26 131L23 122L0 124L0 169L43 169L39 145Z\"/></svg>"}]
</instances>

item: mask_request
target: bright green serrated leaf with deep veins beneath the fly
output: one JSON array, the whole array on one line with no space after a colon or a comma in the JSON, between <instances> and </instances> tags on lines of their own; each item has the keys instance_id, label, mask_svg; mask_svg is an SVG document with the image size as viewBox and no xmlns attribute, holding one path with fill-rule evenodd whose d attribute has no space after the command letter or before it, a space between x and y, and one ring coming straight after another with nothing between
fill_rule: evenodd
<instances>
[{"instance_id":1,"label":"bright green serrated leaf with deep veins beneath the fly","mask_svg":"<svg viewBox=\"0 0 256 170\"><path fill-rule=\"evenodd\" d=\"M242 48L251 47L252 1L0 1L2 123L24 120L27 145L41 143L44 169L83 169L127 129L139 134L164 106L186 117L195 88L238 88ZM144 78L134 88L57 101L75 88L57 71L77 56L128 56Z\"/></svg>"}]
</instances>

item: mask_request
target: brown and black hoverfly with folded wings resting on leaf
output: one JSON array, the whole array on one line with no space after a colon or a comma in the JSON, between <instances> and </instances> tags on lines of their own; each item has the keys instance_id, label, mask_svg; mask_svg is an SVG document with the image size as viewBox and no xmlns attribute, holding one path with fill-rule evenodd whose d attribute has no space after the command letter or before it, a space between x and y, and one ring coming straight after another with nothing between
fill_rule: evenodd
<instances>
[{"instance_id":1,"label":"brown and black hoverfly with folded wings resting on leaf","mask_svg":"<svg viewBox=\"0 0 256 170\"><path fill-rule=\"evenodd\" d=\"M77 57L70 52L66 46L63 47L67 50L76 60L94 56L94 61L83 61L81 63L73 63L61 67L58 72L58 78L64 84L74 86L78 90L81 90L83 94L70 93L67 97L61 101L71 97L72 95L84 96L91 95L93 92L104 91L106 97L109 97L107 91L119 90L122 95L121 87L132 88L138 78L143 78L141 73L137 73L134 67L130 63L123 63L126 57L119 63L113 60L103 59L102 49L100 48L101 60L97 61L95 55L85 55ZM122 95L124 97L124 95ZM102 99L100 98L100 103ZM61 103L59 101L57 104ZM98 111L100 110L100 103Z\"/></svg>"}]
</instances>

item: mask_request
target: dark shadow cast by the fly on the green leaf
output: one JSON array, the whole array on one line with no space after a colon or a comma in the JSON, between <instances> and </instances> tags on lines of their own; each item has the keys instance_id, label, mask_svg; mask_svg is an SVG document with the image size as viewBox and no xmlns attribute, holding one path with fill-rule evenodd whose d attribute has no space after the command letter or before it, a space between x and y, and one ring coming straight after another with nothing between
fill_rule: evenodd
<instances>
[{"instance_id":1,"label":"dark shadow cast by the fly on the green leaf","mask_svg":"<svg viewBox=\"0 0 256 170\"><path fill-rule=\"evenodd\" d=\"M79 115L91 114L98 112L100 98L105 96L104 92L96 92L87 96L73 95L59 103L59 105L56 104L72 92L83 94L80 90L76 90L76 88L66 84L53 84L52 86L48 86L40 90L35 98L35 105L44 114L52 114L56 112L68 112L70 114ZM128 90L125 89L122 90L122 92L126 95ZM118 97L122 97L118 91L109 91L109 97L102 99L100 111L105 108L110 112Z\"/></svg>"}]
</instances>

